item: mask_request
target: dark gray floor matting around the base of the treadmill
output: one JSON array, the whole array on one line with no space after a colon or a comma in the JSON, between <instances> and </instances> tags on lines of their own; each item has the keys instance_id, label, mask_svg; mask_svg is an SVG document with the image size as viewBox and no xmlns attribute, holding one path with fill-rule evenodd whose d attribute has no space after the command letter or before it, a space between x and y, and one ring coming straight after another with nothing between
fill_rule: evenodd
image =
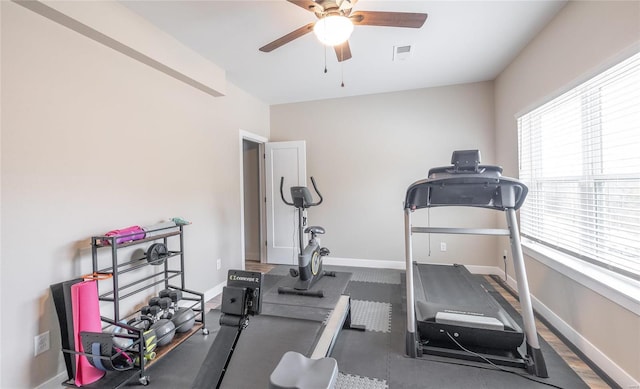
<instances>
[{"instance_id":1,"label":"dark gray floor matting around the base of the treadmill","mask_svg":"<svg viewBox=\"0 0 640 389\"><path fill-rule=\"evenodd\" d=\"M484 282L482 277L478 277ZM488 290L493 288L485 283ZM385 286L386 288L383 288ZM338 360L342 374L386 381L393 388L540 388L548 387L535 380L551 383L565 389L587 388L587 385L541 339L542 351L549 369L549 379L530 376L524 370L518 374L497 371L486 364L469 363L452 358L425 356L421 359L406 357L403 306L404 283L381 285L369 282L351 282L347 288L353 300L372 300L391 303L391 331L389 333L343 331L332 356ZM376 300L380 298L380 300ZM498 294L494 298L520 320L511 307ZM520 377L522 375L524 377Z\"/></svg>"}]
</instances>

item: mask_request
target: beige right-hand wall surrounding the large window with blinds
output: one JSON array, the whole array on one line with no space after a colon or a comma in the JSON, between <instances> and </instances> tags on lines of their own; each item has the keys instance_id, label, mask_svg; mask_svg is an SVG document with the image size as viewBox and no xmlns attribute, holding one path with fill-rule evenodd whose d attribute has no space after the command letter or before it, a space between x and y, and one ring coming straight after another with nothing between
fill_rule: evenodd
<instances>
[{"instance_id":1,"label":"beige right-hand wall surrounding the large window with blinds","mask_svg":"<svg viewBox=\"0 0 640 389\"><path fill-rule=\"evenodd\" d=\"M639 47L640 2L569 2L495 82L496 151L505 171L518 171L518 113L585 81ZM527 258L527 268L531 292L541 303L640 381L640 317L532 258ZM624 374L615 369L608 373L623 382Z\"/></svg>"}]
</instances>

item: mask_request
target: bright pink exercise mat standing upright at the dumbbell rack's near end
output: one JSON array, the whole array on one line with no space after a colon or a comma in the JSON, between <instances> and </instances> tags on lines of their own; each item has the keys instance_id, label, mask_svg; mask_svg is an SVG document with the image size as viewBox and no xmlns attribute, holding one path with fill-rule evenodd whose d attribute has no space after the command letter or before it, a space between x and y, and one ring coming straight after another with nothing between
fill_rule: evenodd
<instances>
[{"instance_id":1,"label":"bright pink exercise mat standing upright at the dumbbell rack's near end","mask_svg":"<svg viewBox=\"0 0 640 389\"><path fill-rule=\"evenodd\" d=\"M84 281L71 286L71 305L73 307L73 336L75 350L85 352L82 347L80 332L102 332L100 307L98 303L98 284L95 280ZM87 351L88 353L91 350ZM93 367L87 357L76 354L76 386L96 382L105 372Z\"/></svg>"}]
</instances>

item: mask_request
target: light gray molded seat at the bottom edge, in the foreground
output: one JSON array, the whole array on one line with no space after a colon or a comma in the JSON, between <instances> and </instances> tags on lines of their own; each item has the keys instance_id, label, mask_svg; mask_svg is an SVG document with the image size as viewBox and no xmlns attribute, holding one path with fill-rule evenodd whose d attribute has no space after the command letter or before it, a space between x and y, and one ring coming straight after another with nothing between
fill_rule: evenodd
<instances>
[{"instance_id":1,"label":"light gray molded seat at the bottom edge, in the foreground","mask_svg":"<svg viewBox=\"0 0 640 389\"><path fill-rule=\"evenodd\" d=\"M338 378L338 362L287 351L269 377L269 389L330 389Z\"/></svg>"}]
</instances>

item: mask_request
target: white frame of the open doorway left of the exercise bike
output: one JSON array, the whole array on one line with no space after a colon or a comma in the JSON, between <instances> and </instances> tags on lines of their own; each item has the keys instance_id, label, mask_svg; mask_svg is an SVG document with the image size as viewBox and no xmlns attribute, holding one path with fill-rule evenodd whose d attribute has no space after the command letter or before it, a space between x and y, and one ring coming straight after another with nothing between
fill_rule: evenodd
<instances>
[{"instance_id":1,"label":"white frame of the open doorway left of the exercise bike","mask_svg":"<svg viewBox=\"0 0 640 389\"><path fill-rule=\"evenodd\" d=\"M268 139L254 134L249 131L239 130L239 151L240 151L240 253L242 256L242 270L245 269L245 241L244 241L244 148L243 141L248 140L253 143L258 144L258 177L259 177L259 187L260 193L259 203L260 203L260 263L266 263L267 261L267 246L264 244L266 241L266 217L265 217L265 183L264 183L264 144L268 142ZM262 156L262 157L261 157Z\"/></svg>"}]
</instances>

